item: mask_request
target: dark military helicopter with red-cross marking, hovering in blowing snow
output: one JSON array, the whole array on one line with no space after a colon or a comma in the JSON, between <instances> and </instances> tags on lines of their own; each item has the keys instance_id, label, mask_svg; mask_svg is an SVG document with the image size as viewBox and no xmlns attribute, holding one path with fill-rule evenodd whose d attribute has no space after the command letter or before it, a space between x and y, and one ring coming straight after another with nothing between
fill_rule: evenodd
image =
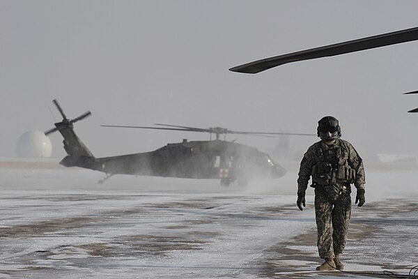
<instances>
[{"instance_id":1,"label":"dark military helicopter with red-cross marking, hovering in blowing snow","mask_svg":"<svg viewBox=\"0 0 418 279\"><path fill-rule=\"evenodd\" d=\"M229 186L234 181L238 181L240 185L244 186L251 179L279 178L284 176L286 170L274 162L267 153L244 144L219 140L220 135L315 136L314 134L301 133L240 132L225 128L203 129L164 124L157 125L165 127L107 126L202 132L215 134L216 139L192 142L183 140L180 143L167 144L155 151L95 158L77 137L73 128L75 122L90 116L91 112L86 112L70 120L65 116L57 100L53 100L53 103L63 116L63 121L55 123L55 128L45 132L45 135L58 130L63 136L64 149L68 156L63 158L60 164L65 167L84 167L106 173L107 176L99 181L100 183L114 174L133 174L187 179L220 179L223 186Z\"/></svg>"}]
</instances>

